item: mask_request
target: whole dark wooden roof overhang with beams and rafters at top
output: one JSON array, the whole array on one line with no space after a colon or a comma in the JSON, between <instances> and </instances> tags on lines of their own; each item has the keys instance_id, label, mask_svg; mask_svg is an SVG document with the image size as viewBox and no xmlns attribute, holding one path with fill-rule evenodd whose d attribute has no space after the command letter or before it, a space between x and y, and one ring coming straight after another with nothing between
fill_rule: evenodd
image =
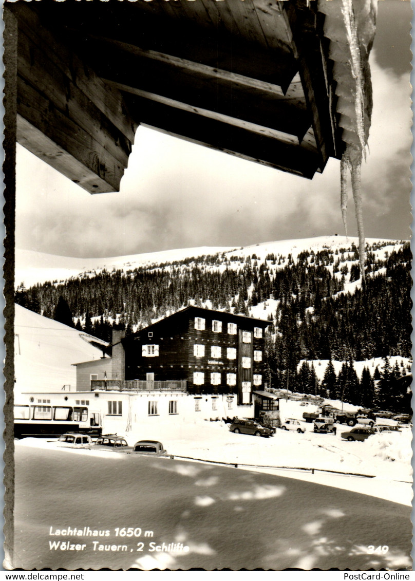
<instances>
[{"instance_id":1,"label":"whole dark wooden roof overhang with beams and rafters at top","mask_svg":"<svg viewBox=\"0 0 415 581\"><path fill-rule=\"evenodd\" d=\"M118 191L139 124L307 178L342 153L316 0L17 0L5 11L17 140L91 193Z\"/></svg>"}]
</instances>

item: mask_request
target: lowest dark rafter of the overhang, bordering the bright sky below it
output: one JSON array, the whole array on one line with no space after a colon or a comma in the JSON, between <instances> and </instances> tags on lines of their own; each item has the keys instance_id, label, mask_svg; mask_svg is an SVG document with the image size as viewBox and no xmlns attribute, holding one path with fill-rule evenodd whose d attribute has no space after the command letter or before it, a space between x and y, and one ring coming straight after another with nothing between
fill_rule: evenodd
<instances>
[{"instance_id":1,"label":"lowest dark rafter of the overhang, bordering the bright sky below it","mask_svg":"<svg viewBox=\"0 0 415 581\"><path fill-rule=\"evenodd\" d=\"M319 167L319 155L301 145L289 145L219 120L173 109L131 95L131 111L136 110L142 125L169 135L206 145L242 159L312 178Z\"/></svg>"}]
</instances>

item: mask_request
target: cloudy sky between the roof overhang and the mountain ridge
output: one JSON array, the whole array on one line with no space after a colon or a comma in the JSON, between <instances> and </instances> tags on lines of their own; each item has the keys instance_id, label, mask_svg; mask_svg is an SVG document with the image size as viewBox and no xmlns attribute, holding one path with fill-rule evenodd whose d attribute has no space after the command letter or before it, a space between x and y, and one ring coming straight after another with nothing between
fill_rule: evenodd
<instances>
[{"instance_id":1,"label":"cloudy sky between the roof overhang and the mountain ridge","mask_svg":"<svg viewBox=\"0 0 415 581\"><path fill-rule=\"evenodd\" d=\"M410 236L409 1L379 2L365 234ZM90 195L17 146L16 247L79 257L343 234L339 162L313 180L139 127L120 192ZM350 193L348 233L356 235Z\"/></svg>"}]
</instances>

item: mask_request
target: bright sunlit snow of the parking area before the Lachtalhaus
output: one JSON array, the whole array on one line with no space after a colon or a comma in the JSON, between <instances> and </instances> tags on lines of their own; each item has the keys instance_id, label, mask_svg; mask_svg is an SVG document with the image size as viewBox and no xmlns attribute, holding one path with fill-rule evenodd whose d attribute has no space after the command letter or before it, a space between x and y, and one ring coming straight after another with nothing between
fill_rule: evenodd
<instances>
[{"instance_id":1,"label":"bright sunlit snow of the parking area before the Lachtalhaus","mask_svg":"<svg viewBox=\"0 0 415 581\"><path fill-rule=\"evenodd\" d=\"M281 415L286 414L286 417L300 417L299 410L305 409L295 401L285 404L281 400L280 403ZM303 434L278 429L273 437L258 438L232 433L223 421L195 421L190 424L177 422L174 429L163 424L143 424L139 431L119 435L125 436L130 446L138 440L159 440L169 455L189 458L189 461L237 464L241 469L261 469L270 474L305 479L411 505L412 432L409 428L403 428L402 432L373 435L365 442L348 442L341 438L341 433L350 429L345 425L338 426L336 435L316 434L312 424L306 422L302 427L306 430ZM16 446L48 450L55 444L25 438L16 442ZM65 453L108 455L102 450L65 449ZM310 472L312 469L314 474ZM364 478L364 475L373 478Z\"/></svg>"}]
</instances>

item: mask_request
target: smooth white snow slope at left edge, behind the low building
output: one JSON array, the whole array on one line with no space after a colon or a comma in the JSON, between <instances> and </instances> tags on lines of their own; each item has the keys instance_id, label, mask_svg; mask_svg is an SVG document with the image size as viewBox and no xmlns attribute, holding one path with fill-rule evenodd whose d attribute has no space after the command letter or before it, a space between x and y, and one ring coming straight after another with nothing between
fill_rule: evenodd
<instances>
[{"instance_id":1,"label":"smooth white snow slope at left edge, behind the low building","mask_svg":"<svg viewBox=\"0 0 415 581\"><path fill-rule=\"evenodd\" d=\"M105 343L18 304L15 307L15 396L22 392L59 392L63 386L74 391L73 363L102 356L90 340Z\"/></svg>"}]
</instances>

